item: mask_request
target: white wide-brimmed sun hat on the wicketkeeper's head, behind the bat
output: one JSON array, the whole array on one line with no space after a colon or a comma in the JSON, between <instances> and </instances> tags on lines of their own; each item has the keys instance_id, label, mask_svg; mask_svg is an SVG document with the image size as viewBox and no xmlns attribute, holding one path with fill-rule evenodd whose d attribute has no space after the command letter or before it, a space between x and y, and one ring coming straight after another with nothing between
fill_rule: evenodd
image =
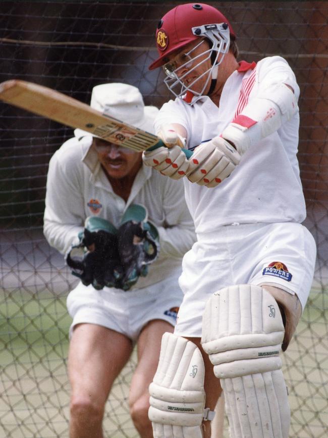
<instances>
[{"instance_id":1,"label":"white wide-brimmed sun hat on the wicketkeeper's head, behind the bat","mask_svg":"<svg viewBox=\"0 0 328 438\"><path fill-rule=\"evenodd\" d=\"M156 107L145 106L137 87L120 82L93 87L90 107L151 134L154 133L153 123L159 111ZM80 138L92 134L77 128L74 135Z\"/></svg>"}]
</instances>

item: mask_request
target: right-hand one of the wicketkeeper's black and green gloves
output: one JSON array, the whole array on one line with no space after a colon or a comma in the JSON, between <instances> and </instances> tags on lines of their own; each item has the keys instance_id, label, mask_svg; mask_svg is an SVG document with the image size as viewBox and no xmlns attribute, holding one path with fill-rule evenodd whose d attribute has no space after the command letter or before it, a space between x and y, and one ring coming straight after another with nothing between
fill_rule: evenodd
<instances>
[{"instance_id":1,"label":"right-hand one of the wicketkeeper's black and green gloves","mask_svg":"<svg viewBox=\"0 0 328 438\"><path fill-rule=\"evenodd\" d=\"M158 231L147 222L147 210L139 204L128 207L117 234L118 249L124 268L122 288L124 290L148 273L148 266L159 252Z\"/></svg>"}]
</instances>

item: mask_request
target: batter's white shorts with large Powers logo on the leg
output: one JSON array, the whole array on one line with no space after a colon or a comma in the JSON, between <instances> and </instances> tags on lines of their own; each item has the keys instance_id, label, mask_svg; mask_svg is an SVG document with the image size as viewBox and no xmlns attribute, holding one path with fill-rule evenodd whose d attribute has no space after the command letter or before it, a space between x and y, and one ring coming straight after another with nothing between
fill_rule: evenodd
<instances>
[{"instance_id":1,"label":"batter's white shorts with large Powers logo on the leg","mask_svg":"<svg viewBox=\"0 0 328 438\"><path fill-rule=\"evenodd\" d=\"M298 223L223 226L200 235L182 263L184 299L175 333L201 337L205 303L215 291L234 284L271 284L297 294L302 308L313 280L316 258L311 233Z\"/></svg>"}]
</instances>

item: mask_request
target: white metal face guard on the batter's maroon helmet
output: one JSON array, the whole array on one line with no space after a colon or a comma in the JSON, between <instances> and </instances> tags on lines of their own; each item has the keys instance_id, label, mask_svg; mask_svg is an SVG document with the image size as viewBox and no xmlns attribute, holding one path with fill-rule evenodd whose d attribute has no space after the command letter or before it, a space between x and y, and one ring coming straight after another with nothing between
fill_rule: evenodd
<instances>
[{"instance_id":1,"label":"white metal face guard on the batter's maroon helmet","mask_svg":"<svg viewBox=\"0 0 328 438\"><path fill-rule=\"evenodd\" d=\"M187 57L187 61L178 67L175 67L174 62L168 62L163 66L163 70L166 73L164 82L169 90L177 98L181 98L184 94L186 94L187 91L190 91L195 96L198 96L198 98L200 98L203 95L209 81L216 79L217 67L222 63L226 53L229 51L230 31L227 23L205 24L202 26L196 26L192 28L192 33L202 39L199 44L192 48L192 50L184 54ZM192 57L192 52L197 47L199 47L206 39L210 41L211 47L208 50L202 52L200 55ZM222 54L222 57L220 60L218 60L220 54ZM202 59L199 60L199 58ZM193 72L197 67L205 63L207 60L210 60L211 67L200 76L198 76L196 79L194 79L191 83L186 85L184 81L186 76ZM179 74L179 71L185 72L183 74ZM204 76L206 76L206 80L201 91L196 91L194 89L195 84ZM194 102L195 100L193 100L193 103Z\"/></svg>"}]
</instances>

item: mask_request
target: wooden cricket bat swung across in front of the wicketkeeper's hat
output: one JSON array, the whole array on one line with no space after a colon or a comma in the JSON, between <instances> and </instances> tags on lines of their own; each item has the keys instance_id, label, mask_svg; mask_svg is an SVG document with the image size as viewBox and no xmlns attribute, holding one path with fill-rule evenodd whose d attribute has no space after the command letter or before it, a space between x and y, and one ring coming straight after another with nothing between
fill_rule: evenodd
<instances>
[{"instance_id":1,"label":"wooden cricket bat swung across in front of the wicketkeeper's hat","mask_svg":"<svg viewBox=\"0 0 328 438\"><path fill-rule=\"evenodd\" d=\"M0 83L0 100L71 128L80 128L136 152L165 146L147 131L102 114L70 96L33 82L12 79ZM187 158L192 151L183 149Z\"/></svg>"}]
</instances>

